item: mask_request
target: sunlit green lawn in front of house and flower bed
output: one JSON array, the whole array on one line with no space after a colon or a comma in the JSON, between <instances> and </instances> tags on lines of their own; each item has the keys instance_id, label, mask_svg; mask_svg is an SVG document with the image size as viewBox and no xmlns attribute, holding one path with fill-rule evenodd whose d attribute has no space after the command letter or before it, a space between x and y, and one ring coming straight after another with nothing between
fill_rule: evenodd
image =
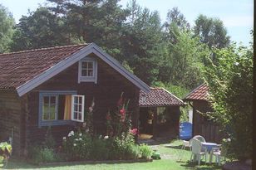
<instances>
[{"instance_id":1,"label":"sunlit green lawn in front of house and flower bed","mask_svg":"<svg viewBox=\"0 0 256 170\"><path fill-rule=\"evenodd\" d=\"M7 169L88 169L88 170L179 170L179 169L221 169L215 163L201 162L200 166L196 163L190 163L190 151L181 150L181 141L173 141L160 145L152 145L153 149L160 153L160 160L154 160L150 163L96 163L96 164L76 164L76 165L58 165L58 166L35 166L18 160L11 160Z\"/></svg>"}]
</instances>

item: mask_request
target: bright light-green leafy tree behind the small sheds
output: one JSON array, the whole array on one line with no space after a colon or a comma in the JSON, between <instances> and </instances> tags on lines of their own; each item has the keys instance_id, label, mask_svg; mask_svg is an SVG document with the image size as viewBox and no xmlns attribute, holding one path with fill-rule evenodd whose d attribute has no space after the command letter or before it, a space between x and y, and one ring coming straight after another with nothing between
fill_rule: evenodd
<instances>
[{"instance_id":1,"label":"bright light-green leafy tree behind the small sheds","mask_svg":"<svg viewBox=\"0 0 256 170\"><path fill-rule=\"evenodd\" d=\"M160 61L161 81L193 89L202 81L203 60L209 56L208 47L192 37L191 32L180 32L175 44L165 46L165 55Z\"/></svg>"}]
</instances>

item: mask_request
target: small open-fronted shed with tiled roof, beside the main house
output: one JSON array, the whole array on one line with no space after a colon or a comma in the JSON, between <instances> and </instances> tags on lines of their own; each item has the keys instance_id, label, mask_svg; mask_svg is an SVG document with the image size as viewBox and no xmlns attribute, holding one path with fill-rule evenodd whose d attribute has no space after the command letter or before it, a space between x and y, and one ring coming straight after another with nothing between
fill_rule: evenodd
<instances>
[{"instance_id":1,"label":"small open-fronted shed with tiled roof, beside the main house","mask_svg":"<svg viewBox=\"0 0 256 170\"><path fill-rule=\"evenodd\" d=\"M176 138L180 129L180 106L184 102L164 88L140 90L139 138Z\"/></svg>"}]
</instances>

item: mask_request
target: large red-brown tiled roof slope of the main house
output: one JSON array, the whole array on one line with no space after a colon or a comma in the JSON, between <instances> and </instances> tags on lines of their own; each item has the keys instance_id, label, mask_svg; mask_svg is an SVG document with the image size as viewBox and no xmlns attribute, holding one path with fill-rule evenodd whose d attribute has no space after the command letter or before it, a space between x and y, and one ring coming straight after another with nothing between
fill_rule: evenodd
<instances>
[{"instance_id":1,"label":"large red-brown tiled roof slope of the main house","mask_svg":"<svg viewBox=\"0 0 256 170\"><path fill-rule=\"evenodd\" d=\"M0 89L16 89L85 46L87 44L0 54Z\"/></svg>"}]
</instances>

